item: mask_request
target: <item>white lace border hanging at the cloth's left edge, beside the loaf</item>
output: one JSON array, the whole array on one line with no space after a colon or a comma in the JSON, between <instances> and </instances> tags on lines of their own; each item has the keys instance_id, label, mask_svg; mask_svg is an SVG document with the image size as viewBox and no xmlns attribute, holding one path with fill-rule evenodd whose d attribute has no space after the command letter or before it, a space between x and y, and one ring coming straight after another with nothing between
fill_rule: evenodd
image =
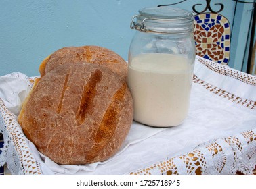
<instances>
[{"instance_id":1,"label":"white lace border hanging at the cloth's left edge, beside the loaf","mask_svg":"<svg viewBox=\"0 0 256 189\"><path fill-rule=\"evenodd\" d=\"M40 163L28 147L14 114L7 109L0 98L0 132L3 133L4 146L0 155L0 166L7 163L12 175L42 175Z\"/></svg>"}]
</instances>

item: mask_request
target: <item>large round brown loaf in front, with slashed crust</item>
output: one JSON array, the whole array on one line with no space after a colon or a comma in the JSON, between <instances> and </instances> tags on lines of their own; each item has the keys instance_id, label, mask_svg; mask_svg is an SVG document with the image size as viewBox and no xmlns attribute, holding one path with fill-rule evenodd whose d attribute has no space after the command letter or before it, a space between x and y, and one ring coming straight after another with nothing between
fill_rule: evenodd
<instances>
[{"instance_id":1,"label":"large round brown loaf in front, with slashed crust","mask_svg":"<svg viewBox=\"0 0 256 189\"><path fill-rule=\"evenodd\" d=\"M67 63L47 72L18 117L26 137L59 164L108 159L119 151L132 120L126 82L91 63Z\"/></svg>"}]
</instances>

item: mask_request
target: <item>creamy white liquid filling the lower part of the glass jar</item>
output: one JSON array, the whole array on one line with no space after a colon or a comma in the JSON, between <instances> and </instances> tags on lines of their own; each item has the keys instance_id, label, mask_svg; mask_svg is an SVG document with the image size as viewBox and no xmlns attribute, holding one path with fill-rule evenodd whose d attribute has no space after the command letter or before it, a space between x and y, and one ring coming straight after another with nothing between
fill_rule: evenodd
<instances>
[{"instance_id":1,"label":"creamy white liquid filling the lower part of the glass jar","mask_svg":"<svg viewBox=\"0 0 256 189\"><path fill-rule=\"evenodd\" d=\"M128 86L135 121L158 127L177 126L188 114L192 60L181 55L146 53L129 63Z\"/></svg>"}]
</instances>

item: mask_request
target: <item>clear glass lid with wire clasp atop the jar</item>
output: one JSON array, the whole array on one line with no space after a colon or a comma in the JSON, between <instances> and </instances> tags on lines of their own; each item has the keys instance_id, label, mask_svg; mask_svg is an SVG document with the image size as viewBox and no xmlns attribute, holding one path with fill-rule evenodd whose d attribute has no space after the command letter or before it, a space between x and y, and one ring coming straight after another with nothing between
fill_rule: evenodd
<instances>
[{"instance_id":1,"label":"clear glass lid with wire clasp atop the jar","mask_svg":"<svg viewBox=\"0 0 256 189\"><path fill-rule=\"evenodd\" d=\"M133 16L131 28L140 32L185 34L194 30L194 15L191 11L173 7L144 8Z\"/></svg>"}]
</instances>

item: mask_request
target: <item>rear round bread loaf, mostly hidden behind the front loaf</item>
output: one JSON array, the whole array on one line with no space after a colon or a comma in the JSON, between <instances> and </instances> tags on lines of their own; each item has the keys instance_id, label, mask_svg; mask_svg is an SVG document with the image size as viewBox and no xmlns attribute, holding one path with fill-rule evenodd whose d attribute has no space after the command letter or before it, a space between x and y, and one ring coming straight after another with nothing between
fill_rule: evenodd
<instances>
[{"instance_id":1,"label":"rear round bread loaf, mostly hidden behind the front loaf","mask_svg":"<svg viewBox=\"0 0 256 189\"><path fill-rule=\"evenodd\" d=\"M39 72L42 77L58 65L85 62L104 65L125 80L127 79L128 65L125 60L110 49L93 45L59 49L43 60Z\"/></svg>"}]
</instances>

